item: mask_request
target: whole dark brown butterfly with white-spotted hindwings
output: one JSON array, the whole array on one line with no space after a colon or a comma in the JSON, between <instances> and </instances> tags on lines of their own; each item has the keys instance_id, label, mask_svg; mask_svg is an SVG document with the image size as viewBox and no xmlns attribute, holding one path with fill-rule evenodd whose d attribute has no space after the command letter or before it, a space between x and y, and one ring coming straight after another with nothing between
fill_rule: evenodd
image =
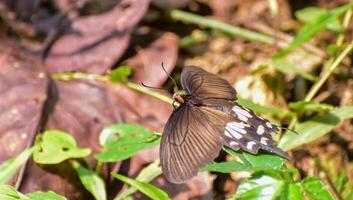
<instances>
[{"instance_id":1,"label":"whole dark brown butterfly with white-spotted hindwings","mask_svg":"<svg viewBox=\"0 0 353 200\"><path fill-rule=\"evenodd\" d=\"M278 126L237 104L237 93L226 80L188 66L181 85L185 95L174 93L180 106L168 119L160 145L161 168L169 182L183 183L195 176L223 145L252 154L263 149L288 159L271 138Z\"/></svg>"}]
</instances>

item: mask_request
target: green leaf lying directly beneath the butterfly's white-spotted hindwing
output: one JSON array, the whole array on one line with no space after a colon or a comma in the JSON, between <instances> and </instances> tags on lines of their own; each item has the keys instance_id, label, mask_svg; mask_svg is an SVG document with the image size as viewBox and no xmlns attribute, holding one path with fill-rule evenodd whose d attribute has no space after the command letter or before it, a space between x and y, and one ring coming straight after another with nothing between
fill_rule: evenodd
<instances>
[{"instance_id":1,"label":"green leaf lying directly beneath the butterfly's white-spotted hindwing","mask_svg":"<svg viewBox=\"0 0 353 200\"><path fill-rule=\"evenodd\" d=\"M281 169L285 159L270 154L258 154L252 155L245 152L236 152L228 147L224 147L224 150L230 155L239 158L241 162L228 161L221 163L211 163L200 171L213 171L221 173L229 173L234 171L259 171L269 169Z\"/></svg>"}]
</instances>

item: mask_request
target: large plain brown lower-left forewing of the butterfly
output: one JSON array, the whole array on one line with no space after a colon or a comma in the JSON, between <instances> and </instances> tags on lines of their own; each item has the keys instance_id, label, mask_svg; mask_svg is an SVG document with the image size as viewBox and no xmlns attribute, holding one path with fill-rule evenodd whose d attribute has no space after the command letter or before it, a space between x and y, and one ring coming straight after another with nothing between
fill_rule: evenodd
<instances>
[{"instance_id":1,"label":"large plain brown lower-left forewing of the butterfly","mask_svg":"<svg viewBox=\"0 0 353 200\"><path fill-rule=\"evenodd\" d=\"M162 135L160 159L169 182L182 183L212 162L222 147L222 135L198 107L181 105L169 118Z\"/></svg>"}]
</instances>

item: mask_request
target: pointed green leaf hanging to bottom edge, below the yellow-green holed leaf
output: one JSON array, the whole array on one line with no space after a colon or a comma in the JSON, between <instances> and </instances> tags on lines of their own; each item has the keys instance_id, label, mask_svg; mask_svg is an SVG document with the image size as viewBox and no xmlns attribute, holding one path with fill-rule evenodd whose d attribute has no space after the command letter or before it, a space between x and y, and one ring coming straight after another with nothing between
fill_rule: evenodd
<instances>
[{"instance_id":1,"label":"pointed green leaf hanging to bottom edge, below the yellow-green holed leaf","mask_svg":"<svg viewBox=\"0 0 353 200\"><path fill-rule=\"evenodd\" d=\"M107 199L105 183L101 177L90 169L83 167L78 161L73 160L71 165L77 172L83 186L94 196L95 199Z\"/></svg>"}]
</instances>

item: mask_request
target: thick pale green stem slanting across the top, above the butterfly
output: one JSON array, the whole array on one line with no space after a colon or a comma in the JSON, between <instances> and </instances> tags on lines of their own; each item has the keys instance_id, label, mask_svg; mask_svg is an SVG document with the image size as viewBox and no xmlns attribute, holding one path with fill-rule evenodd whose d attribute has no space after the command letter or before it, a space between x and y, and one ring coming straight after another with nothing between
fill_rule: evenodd
<instances>
[{"instance_id":1,"label":"thick pale green stem slanting across the top, above the butterfly","mask_svg":"<svg viewBox=\"0 0 353 200\"><path fill-rule=\"evenodd\" d=\"M172 19L175 19L175 20L180 20L185 23L192 23L198 26L212 28L232 36L242 37L247 40L253 40L253 41L263 42L267 44L272 44L274 42L274 39L271 36L265 35L263 33L250 31L218 20L207 19L203 16L195 15L189 12L185 12L181 10L172 10L170 15Z\"/></svg>"}]
</instances>

